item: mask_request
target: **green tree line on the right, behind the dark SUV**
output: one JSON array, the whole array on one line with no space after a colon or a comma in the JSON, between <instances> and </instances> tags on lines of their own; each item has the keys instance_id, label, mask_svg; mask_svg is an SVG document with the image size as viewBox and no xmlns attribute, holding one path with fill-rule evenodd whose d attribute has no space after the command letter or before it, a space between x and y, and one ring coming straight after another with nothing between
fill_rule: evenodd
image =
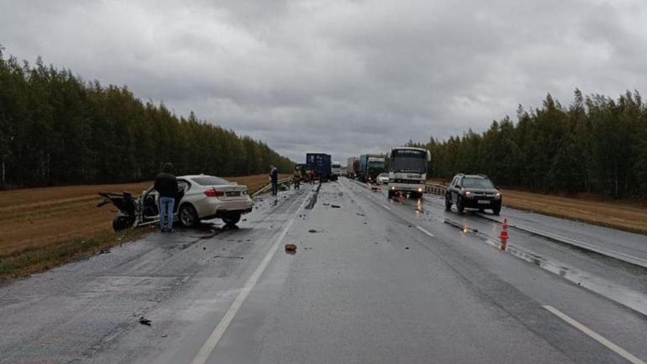
<instances>
[{"instance_id":1,"label":"green tree line on the right, behind the dark SUV","mask_svg":"<svg viewBox=\"0 0 647 364\"><path fill-rule=\"evenodd\" d=\"M569 106L549 94L540 108L519 106L516 116L483 133L408 145L432 152L433 177L479 173L513 188L647 197L647 104L637 91L615 100L576 89Z\"/></svg>"}]
</instances>

